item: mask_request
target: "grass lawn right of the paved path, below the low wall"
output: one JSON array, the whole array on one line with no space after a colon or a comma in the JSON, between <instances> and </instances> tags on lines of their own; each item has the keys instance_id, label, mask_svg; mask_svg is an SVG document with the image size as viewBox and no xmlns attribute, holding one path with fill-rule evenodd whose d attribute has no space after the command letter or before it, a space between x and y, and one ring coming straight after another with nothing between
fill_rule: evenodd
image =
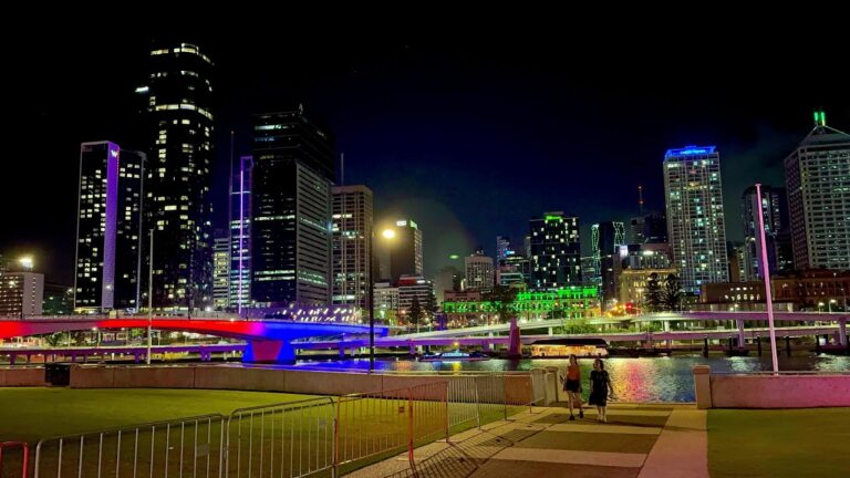
<instances>
[{"instance_id":1,"label":"grass lawn right of the paved path, below the low wall","mask_svg":"<svg viewBox=\"0 0 850 478\"><path fill-rule=\"evenodd\" d=\"M712 478L848 477L848 444L850 408L708 411Z\"/></svg>"}]
</instances>

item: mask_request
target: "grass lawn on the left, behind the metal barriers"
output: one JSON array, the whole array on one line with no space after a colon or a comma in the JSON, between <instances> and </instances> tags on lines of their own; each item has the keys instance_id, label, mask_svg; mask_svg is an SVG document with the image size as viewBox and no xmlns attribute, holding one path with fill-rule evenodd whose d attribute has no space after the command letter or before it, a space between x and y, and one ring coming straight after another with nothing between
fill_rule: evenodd
<instances>
[{"instance_id":1,"label":"grass lawn on the left, behind the metal barriers","mask_svg":"<svg viewBox=\"0 0 850 478\"><path fill-rule=\"evenodd\" d=\"M40 438L312 398L175 388L0 388L0 441Z\"/></svg>"}]
</instances>

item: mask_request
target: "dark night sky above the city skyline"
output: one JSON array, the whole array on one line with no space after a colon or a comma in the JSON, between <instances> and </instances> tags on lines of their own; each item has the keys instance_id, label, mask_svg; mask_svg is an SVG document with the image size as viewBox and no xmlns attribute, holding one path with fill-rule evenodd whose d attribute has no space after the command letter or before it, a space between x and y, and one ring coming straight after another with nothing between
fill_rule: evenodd
<instances>
[{"instance_id":1,"label":"dark night sky above the city skyline","mask_svg":"<svg viewBox=\"0 0 850 478\"><path fill-rule=\"evenodd\" d=\"M158 33L77 27L18 38L4 69L15 74L7 79L0 253L32 252L46 280L64 283L73 280L80 143L146 148L133 91ZM727 236L739 240L740 193L757 180L784 184L781 160L808 134L813 108L850 131L847 43L836 30L813 44L813 30L786 37L746 24L656 39L640 27L473 27L187 32L218 67L214 226L227 220L230 131L236 156L249 154L249 115L299 103L335 135L345 184L374 190L377 217L419 224L426 273L462 266L448 256L478 245L493 254L497 235L521 247L528 219L547 210L579 216L589 249L592 222L638 212L639 184L647 210L663 210L664 152L691 144L717 145Z\"/></svg>"}]
</instances>

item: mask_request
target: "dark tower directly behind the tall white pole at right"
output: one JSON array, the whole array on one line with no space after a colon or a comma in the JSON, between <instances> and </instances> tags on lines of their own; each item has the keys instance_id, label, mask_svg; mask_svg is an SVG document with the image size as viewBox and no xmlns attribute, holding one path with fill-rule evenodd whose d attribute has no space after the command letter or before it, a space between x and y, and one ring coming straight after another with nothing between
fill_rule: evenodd
<instances>
[{"instance_id":1,"label":"dark tower directly behind the tall white pole at right","mask_svg":"<svg viewBox=\"0 0 850 478\"><path fill-rule=\"evenodd\" d=\"M744 210L744 274L742 281L764 278L761 247L758 239L758 206L756 187L750 186L742 195ZM765 242L767 242L767 264L770 273L790 272L794 268L791 252L790 224L788 221L788 199L785 188L761 186L761 210L765 221ZM733 282L735 282L733 280Z\"/></svg>"}]
</instances>

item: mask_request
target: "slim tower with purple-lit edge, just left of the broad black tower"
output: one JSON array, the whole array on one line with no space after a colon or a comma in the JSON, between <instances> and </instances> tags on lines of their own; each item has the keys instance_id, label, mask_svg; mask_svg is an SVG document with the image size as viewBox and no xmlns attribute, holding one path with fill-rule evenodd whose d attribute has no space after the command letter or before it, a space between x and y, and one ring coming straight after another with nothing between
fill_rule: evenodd
<instances>
[{"instance_id":1,"label":"slim tower with purple-lit edge, just left of the broad black tower","mask_svg":"<svg viewBox=\"0 0 850 478\"><path fill-rule=\"evenodd\" d=\"M242 156L230 188L230 308L251 306L251 174L253 156Z\"/></svg>"}]
</instances>

